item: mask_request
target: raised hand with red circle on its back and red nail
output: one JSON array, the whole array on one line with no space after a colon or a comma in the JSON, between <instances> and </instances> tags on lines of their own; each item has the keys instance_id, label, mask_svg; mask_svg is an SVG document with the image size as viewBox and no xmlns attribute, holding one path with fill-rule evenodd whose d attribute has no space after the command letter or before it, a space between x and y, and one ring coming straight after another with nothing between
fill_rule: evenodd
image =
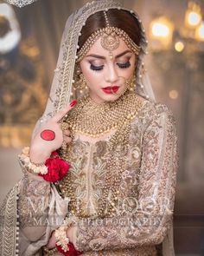
<instances>
[{"instance_id":1,"label":"raised hand with red circle on its back and red nail","mask_svg":"<svg viewBox=\"0 0 204 256\"><path fill-rule=\"evenodd\" d=\"M61 148L63 141L67 143L72 141L69 137L70 131L68 129L63 131L62 134L61 124L59 121L67 115L68 111L73 108L75 103L76 101L71 102L67 108L58 112L41 127L40 131L31 141L29 149L30 161L34 163L44 162L54 150Z\"/></svg>"}]
</instances>

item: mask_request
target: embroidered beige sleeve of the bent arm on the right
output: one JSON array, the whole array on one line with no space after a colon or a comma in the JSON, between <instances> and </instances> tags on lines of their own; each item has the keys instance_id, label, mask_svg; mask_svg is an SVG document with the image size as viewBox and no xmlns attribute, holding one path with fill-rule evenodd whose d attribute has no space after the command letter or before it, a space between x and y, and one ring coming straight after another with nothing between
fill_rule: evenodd
<instances>
[{"instance_id":1,"label":"embroidered beige sleeve of the bent arm on the right","mask_svg":"<svg viewBox=\"0 0 204 256\"><path fill-rule=\"evenodd\" d=\"M131 248L160 244L171 225L178 165L174 117L165 105L144 128L138 183L138 207L103 220L78 223L75 246L80 251Z\"/></svg>"}]
</instances>

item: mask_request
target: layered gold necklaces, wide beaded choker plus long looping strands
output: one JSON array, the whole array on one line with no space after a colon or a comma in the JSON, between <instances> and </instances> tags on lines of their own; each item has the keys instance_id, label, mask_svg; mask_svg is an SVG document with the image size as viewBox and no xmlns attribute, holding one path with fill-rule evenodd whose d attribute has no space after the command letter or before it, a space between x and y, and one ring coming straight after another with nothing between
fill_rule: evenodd
<instances>
[{"instance_id":1,"label":"layered gold necklaces, wide beaded choker plus long looping strands","mask_svg":"<svg viewBox=\"0 0 204 256\"><path fill-rule=\"evenodd\" d=\"M138 109L142 108L142 105L143 102L137 95L129 90L115 102L102 104L93 102L91 97L86 95L70 110L67 119L64 120L73 137L75 134L81 134L96 138L109 133L112 129L116 129L108 143L107 155L109 160L106 163L104 193L99 201L96 214L92 217L112 216L115 211L121 174L125 167L123 159L117 157L117 150L123 150L123 152L127 150L131 121L137 115ZM68 161L67 150L61 149L61 156ZM69 207L75 216L80 218L90 217L84 209L77 205L72 183L67 175L61 181L61 194L69 197ZM107 200L110 192L112 198Z\"/></svg>"}]
</instances>

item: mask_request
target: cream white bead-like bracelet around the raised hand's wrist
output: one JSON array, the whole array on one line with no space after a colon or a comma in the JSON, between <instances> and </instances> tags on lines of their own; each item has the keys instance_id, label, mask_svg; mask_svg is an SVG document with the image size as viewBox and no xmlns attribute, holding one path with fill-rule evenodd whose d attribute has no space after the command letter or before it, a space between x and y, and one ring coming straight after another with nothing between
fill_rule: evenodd
<instances>
[{"instance_id":1,"label":"cream white bead-like bracelet around the raised hand's wrist","mask_svg":"<svg viewBox=\"0 0 204 256\"><path fill-rule=\"evenodd\" d=\"M44 163L33 163L29 159L29 147L22 149L22 154L19 155L19 159L24 162L26 167L29 167L35 174L48 174L48 167Z\"/></svg>"}]
</instances>

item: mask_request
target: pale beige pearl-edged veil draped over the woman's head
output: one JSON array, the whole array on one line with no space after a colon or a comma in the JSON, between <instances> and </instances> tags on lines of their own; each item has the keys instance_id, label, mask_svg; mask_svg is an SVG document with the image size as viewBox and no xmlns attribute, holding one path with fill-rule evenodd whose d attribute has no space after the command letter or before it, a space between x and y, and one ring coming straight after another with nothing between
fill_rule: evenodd
<instances>
[{"instance_id":1,"label":"pale beige pearl-edged veil draped over the woman's head","mask_svg":"<svg viewBox=\"0 0 204 256\"><path fill-rule=\"evenodd\" d=\"M71 16L68 17L65 30L61 39L61 49L58 57L56 69L54 69L54 79L50 89L47 106L41 119L37 121L35 126L34 135L41 127L41 124L48 121L56 112L65 108L67 103L73 100L73 77L74 66L77 60L77 50L79 49L78 41L80 31L86 24L86 19L92 14L108 9L127 10L121 3L114 0L95 0L91 3L86 3L80 10L76 10ZM136 93L153 102L155 96L150 84L150 79L144 69L143 56L146 54L147 39L143 24L134 10L130 11L131 15L138 21L139 29L141 31L140 53L137 56L137 69L136 69Z\"/></svg>"}]
</instances>

